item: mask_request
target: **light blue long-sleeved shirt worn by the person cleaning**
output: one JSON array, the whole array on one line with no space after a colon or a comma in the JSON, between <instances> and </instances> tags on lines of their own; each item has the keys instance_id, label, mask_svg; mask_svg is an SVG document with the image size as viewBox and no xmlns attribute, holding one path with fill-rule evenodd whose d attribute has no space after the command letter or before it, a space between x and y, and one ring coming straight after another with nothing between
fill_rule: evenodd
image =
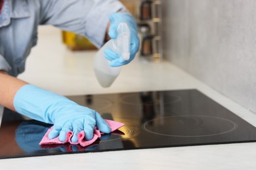
<instances>
[{"instance_id":1,"label":"light blue long-sleeved shirt worn by the person cleaning","mask_svg":"<svg viewBox=\"0 0 256 170\"><path fill-rule=\"evenodd\" d=\"M5 0L0 14L0 70L17 76L37 44L39 25L85 35L100 47L108 16L124 10L117 0Z\"/></svg>"}]
</instances>

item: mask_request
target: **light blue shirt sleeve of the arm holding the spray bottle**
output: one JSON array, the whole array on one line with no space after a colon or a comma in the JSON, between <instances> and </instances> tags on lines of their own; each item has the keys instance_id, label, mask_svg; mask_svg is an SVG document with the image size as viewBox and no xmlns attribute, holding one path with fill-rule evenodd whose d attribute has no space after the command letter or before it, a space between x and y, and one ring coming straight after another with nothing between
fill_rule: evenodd
<instances>
[{"instance_id":1,"label":"light blue shirt sleeve of the arm holding the spray bottle","mask_svg":"<svg viewBox=\"0 0 256 170\"><path fill-rule=\"evenodd\" d=\"M98 48L102 46L108 16L125 7L117 0L44 0L40 24L84 35Z\"/></svg>"}]
</instances>

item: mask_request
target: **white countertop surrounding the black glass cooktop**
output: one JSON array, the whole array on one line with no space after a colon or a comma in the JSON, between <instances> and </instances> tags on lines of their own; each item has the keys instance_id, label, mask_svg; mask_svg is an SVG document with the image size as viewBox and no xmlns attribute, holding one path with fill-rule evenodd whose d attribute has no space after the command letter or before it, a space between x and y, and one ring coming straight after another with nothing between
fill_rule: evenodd
<instances>
[{"instance_id":1,"label":"white countertop surrounding the black glass cooktop","mask_svg":"<svg viewBox=\"0 0 256 170\"><path fill-rule=\"evenodd\" d=\"M123 66L110 88L101 88L93 72L95 51L70 52L61 44L58 30L40 31L43 36L19 78L41 88L62 95L196 88L256 126L255 113L167 61L137 58ZM255 160L256 143L240 143L14 158L0 160L0 169L256 169Z\"/></svg>"}]
</instances>

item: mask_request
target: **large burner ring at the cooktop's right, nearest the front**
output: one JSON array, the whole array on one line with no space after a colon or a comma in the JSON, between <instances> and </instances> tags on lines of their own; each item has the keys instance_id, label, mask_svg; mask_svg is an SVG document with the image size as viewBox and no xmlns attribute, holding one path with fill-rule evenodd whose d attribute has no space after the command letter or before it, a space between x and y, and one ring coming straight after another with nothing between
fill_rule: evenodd
<instances>
[{"instance_id":1,"label":"large burner ring at the cooktop's right, nearest the front","mask_svg":"<svg viewBox=\"0 0 256 170\"><path fill-rule=\"evenodd\" d=\"M151 130L148 128L148 126L150 126L150 123L154 122L154 121L165 121L167 119L172 119L172 118L207 118L207 119L212 119L215 121L223 121L226 122L230 125L230 127L224 131L221 131L219 133L212 133L212 134L205 134L205 135L177 135L177 134L166 134L166 133L161 133L161 132L157 132L154 130ZM196 126L200 125L202 126L202 121L200 120L196 120ZM238 124L236 124L236 122L233 122L232 120L228 120L226 118L220 118L217 116L203 116L203 115L182 115L182 116L166 116L163 118L155 118L153 120L149 120L148 122L144 122L144 124L142 124L142 129L144 129L145 131L149 132L149 133L154 133L156 135L163 135L163 136L168 136L168 137L209 137L209 136L214 136L214 135L222 135L224 133L229 133L231 131L234 131L235 129L237 129ZM190 132L191 133L191 132Z\"/></svg>"}]
</instances>

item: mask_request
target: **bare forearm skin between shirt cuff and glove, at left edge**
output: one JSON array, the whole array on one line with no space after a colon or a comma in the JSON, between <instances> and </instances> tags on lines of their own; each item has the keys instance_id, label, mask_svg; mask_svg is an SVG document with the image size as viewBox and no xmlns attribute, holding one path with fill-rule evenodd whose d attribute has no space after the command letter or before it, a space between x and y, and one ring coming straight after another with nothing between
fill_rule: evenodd
<instances>
[{"instance_id":1,"label":"bare forearm skin between shirt cuff and glove, at left edge","mask_svg":"<svg viewBox=\"0 0 256 170\"><path fill-rule=\"evenodd\" d=\"M0 71L0 105L15 110L13 99L16 92L28 82L10 76L5 71Z\"/></svg>"}]
</instances>

